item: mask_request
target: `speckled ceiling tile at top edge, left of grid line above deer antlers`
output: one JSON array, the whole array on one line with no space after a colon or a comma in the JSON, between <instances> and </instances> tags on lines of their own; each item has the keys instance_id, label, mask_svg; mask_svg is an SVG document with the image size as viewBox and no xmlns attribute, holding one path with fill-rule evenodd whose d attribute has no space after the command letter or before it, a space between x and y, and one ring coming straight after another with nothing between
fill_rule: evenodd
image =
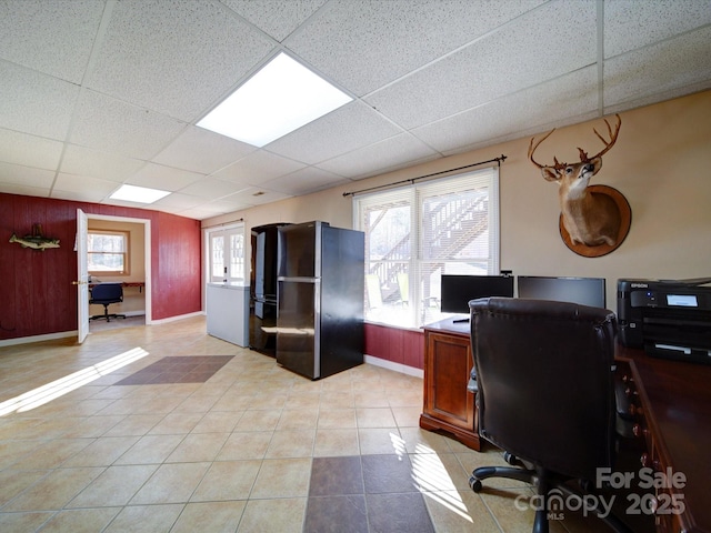
<instances>
[{"instance_id":1,"label":"speckled ceiling tile at top edge, left of grid line above deer antlers","mask_svg":"<svg viewBox=\"0 0 711 533\"><path fill-rule=\"evenodd\" d=\"M405 129L595 61L595 4L552 2L365 100Z\"/></svg>"}]
</instances>

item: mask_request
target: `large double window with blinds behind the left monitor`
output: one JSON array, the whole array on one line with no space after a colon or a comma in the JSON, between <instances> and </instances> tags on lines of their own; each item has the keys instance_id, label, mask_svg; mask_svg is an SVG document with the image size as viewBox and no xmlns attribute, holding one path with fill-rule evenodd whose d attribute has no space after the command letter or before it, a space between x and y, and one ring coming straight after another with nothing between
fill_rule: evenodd
<instances>
[{"instance_id":1,"label":"large double window with blinds behind the left monitor","mask_svg":"<svg viewBox=\"0 0 711 533\"><path fill-rule=\"evenodd\" d=\"M365 319L419 328L444 318L442 274L499 273L499 171L354 198L365 233Z\"/></svg>"}]
</instances>

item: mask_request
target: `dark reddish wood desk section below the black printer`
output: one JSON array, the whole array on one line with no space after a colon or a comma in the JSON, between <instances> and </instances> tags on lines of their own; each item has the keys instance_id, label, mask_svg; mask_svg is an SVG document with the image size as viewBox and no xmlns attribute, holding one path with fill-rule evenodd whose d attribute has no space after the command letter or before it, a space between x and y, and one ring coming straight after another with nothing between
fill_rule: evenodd
<instances>
[{"instance_id":1,"label":"dark reddish wood desk section below the black printer","mask_svg":"<svg viewBox=\"0 0 711 533\"><path fill-rule=\"evenodd\" d=\"M631 393L638 396L639 435L647 440L640 461L687 479L681 489L657 490L660 505L670 500L659 496L665 492L681 495L684 506L681 514L658 514L658 531L711 533L711 365L650 358L623 346L617 356L630 364Z\"/></svg>"}]
</instances>

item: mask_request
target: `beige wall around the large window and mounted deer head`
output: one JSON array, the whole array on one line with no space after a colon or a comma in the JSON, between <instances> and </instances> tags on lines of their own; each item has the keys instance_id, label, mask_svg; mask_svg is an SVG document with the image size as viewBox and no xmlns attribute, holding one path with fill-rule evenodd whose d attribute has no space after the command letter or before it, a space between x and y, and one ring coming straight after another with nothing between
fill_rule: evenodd
<instances>
[{"instance_id":1,"label":"beige wall around the large window and mounted deer head","mask_svg":"<svg viewBox=\"0 0 711 533\"><path fill-rule=\"evenodd\" d=\"M350 228L346 191L414 178L489 160L500 154L501 268L514 274L579 275L607 279L608 306L615 310L618 278L711 276L711 91L621 113L617 144L603 157L591 183L618 189L632 208L625 241L601 258L570 251L558 231L557 185L527 159L530 138L452 155L319 193L203 221L203 227L244 219L249 229L270 222L323 220ZM602 120L555 131L537 151L539 161L578 161L581 147L602 148L592 129Z\"/></svg>"}]
</instances>

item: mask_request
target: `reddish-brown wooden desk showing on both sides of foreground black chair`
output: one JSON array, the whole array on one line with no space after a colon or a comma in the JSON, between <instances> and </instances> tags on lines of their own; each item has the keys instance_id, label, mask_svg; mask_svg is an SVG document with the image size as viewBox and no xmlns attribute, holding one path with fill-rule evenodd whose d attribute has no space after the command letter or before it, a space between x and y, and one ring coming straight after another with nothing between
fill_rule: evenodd
<instances>
[{"instance_id":1,"label":"reddish-brown wooden desk showing on both sides of foreground black chair","mask_svg":"<svg viewBox=\"0 0 711 533\"><path fill-rule=\"evenodd\" d=\"M474 395L467 391L473 364L469 334L469 322L452 319L424 326L420 428L447 431L480 450ZM669 506L667 514L658 514L657 530L711 533L711 365L650 358L642 350L621 345L615 356L631 379L637 430L645 441L639 469L678 472L687 480L681 489L657 489L659 505L670 502L661 493L677 493L684 507L681 514L671 513Z\"/></svg>"}]
</instances>

